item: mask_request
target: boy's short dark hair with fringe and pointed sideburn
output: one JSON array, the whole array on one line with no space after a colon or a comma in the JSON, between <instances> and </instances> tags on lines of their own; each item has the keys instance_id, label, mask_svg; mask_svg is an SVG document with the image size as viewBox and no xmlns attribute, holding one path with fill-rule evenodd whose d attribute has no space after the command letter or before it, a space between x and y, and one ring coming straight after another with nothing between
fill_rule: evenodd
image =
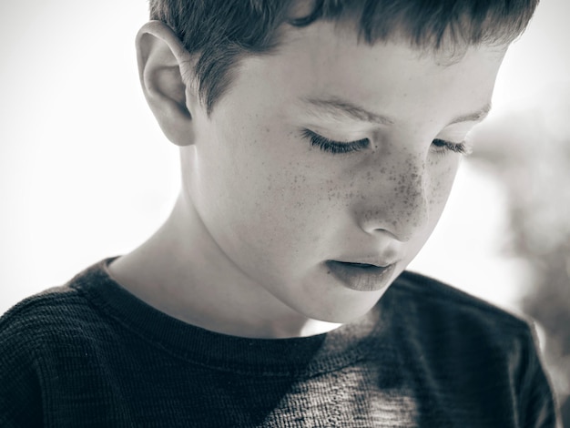
<instances>
[{"instance_id":1,"label":"boy's short dark hair with fringe and pointed sideburn","mask_svg":"<svg viewBox=\"0 0 570 428\"><path fill-rule=\"evenodd\" d=\"M198 54L198 91L211 113L231 83L232 66L270 52L280 25L352 19L369 44L406 36L412 46L435 51L444 40L502 45L524 31L539 0L313 0L308 14L292 17L299 1L308 0L150 0L150 19L170 26Z\"/></svg>"}]
</instances>

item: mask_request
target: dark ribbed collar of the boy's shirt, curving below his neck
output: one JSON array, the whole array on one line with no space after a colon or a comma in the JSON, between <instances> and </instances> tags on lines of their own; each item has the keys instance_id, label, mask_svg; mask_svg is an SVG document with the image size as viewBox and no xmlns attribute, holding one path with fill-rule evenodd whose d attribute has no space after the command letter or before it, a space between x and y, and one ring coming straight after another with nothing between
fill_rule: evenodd
<instances>
[{"instance_id":1,"label":"dark ribbed collar of the boy's shirt, curving below his neck","mask_svg":"<svg viewBox=\"0 0 570 428\"><path fill-rule=\"evenodd\" d=\"M208 331L137 299L109 276L107 265L114 259L101 260L68 285L140 339L188 362L254 375L314 375L364 359L389 342L386 304L376 305L359 321L304 338L249 339Z\"/></svg>"}]
</instances>

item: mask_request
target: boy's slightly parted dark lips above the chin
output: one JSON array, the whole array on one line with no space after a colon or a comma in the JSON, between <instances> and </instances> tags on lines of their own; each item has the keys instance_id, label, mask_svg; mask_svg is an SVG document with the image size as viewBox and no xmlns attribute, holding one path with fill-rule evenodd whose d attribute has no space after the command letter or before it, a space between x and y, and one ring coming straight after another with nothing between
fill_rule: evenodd
<instances>
[{"instance_id":1,"label":"boy's slightly parted dark lips above the chin","mask_svg":"<svg viewBox=\"0 0 570 428\"><path fill-rule=\"evenodd\" d=\"M395 264L386 267L359 265L328 260L325 262L329 273L351 290L378 291L389 284Z\"/></svg>"}]
</instances>

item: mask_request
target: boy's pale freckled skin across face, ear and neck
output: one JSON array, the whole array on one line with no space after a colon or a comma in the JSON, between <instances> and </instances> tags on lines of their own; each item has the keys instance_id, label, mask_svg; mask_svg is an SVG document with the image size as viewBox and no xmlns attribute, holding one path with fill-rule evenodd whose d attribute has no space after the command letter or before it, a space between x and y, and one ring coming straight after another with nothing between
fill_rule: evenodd
<instances>
[{"instance_id":1,"label":"boy's pale freckled skin across face, ear and neck","mask_svg":"<svg viewBox=\"0 0 570 428\"><path fill-rule=\"evenodd\" d=\"M460 144L484 117L505 48L468 47L450 64L317 22L243 59L208 117L188 78L195 57L165 25L145 25L141 84L180 147L182 187L162 228L111 275L159 311L238 336L358 319L432 233L461 159L433 140ZM306 130L367 143L333 154ZM351 290L326 260L396 268L381 290Z\"/></svg>"}]
</instances>

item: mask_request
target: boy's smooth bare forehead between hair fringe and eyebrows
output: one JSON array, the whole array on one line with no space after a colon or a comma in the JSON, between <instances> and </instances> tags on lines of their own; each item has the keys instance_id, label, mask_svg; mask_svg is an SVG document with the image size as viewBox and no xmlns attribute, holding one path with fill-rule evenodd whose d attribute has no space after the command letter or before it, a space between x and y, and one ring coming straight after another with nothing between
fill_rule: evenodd
<instances>
[{"instance_id":1,"label":"boy's smooth bare forehead between hair fringe and eyebrows","mask_svg":"<svg viewBox=\"0 0 570 428\"><path fill-rule=\"evenodd\" d=\"M403 41L369 45L346 26L320 21L285 31L273 54L245 58L237 83L252 95L269 91L281 103L346 100L396 119L421 104L426 116L437 110L457 117L489 104L503 55L490 46L469 46L452 57Z\"/></svg>"}]
</instances>

